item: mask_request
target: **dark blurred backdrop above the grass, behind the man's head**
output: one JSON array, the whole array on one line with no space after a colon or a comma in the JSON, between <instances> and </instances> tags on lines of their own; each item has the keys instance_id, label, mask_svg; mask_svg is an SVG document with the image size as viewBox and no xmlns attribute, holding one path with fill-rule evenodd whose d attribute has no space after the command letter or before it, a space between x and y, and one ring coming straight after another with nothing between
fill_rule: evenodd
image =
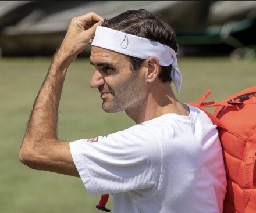
<instances>
[{"instance_id":1,"label":"dark blurred backdrop above the grass, behind the man's head","mask_svg":"<svg viewBox=\"0 0 256 213\"><path fill-rule=\"evenodd\" d=\"M256 2L208 0L1 1L1 54L52 55L72 17L94 11L110 18L139 8L159 13L172 24L180 55L255 57Z\"/></svg>"}]
</instances>

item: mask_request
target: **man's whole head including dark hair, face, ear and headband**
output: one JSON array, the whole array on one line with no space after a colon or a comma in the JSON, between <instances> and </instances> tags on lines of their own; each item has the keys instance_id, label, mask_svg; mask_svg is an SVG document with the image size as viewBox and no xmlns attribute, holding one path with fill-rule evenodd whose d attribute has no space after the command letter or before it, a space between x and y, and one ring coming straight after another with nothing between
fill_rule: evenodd
<instances>
[{"instance_id":1,"label":"man's whole head including dark hair, face, ear and headband","mask_svg":"<svg viewBox=\"0 0 256 213\"><path fill-rule=\"evenodd\" d=\"M120 47L125 41L123 38L128 44L125 48ZM145 42L144 45L141 42ZM175 62L177 51L175 33L168 23L146 10L127 11L104 20L92 45L90 58L96 70L91 87L101 92L102 107L107 112L139 110L147 102L151 82L171 81L172 65L169 64ZM148 47L149 54L140 57ZM156 49L161 57L151 55ZM123 50L135 50L138 57L131 57Z\"/></svg>"}]
</instances>

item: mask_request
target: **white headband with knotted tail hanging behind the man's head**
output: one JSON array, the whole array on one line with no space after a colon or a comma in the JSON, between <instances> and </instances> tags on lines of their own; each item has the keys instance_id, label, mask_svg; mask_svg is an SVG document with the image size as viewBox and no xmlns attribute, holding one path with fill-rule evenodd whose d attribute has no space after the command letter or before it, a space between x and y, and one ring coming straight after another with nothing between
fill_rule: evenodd
<instances>
[{"instance_id":1,"label":"white headband with knotted tail hanging behind the man's head","mask_svg":"<svg viewBox=\"0 0 256 213\"><path fill-rule=\"evenodd\" d=\"M155 56L159 60L161 66L169 66L172 64L172 81L173 84L175 84L177 91L180 92L182 86L182 74L177 65L176 53L169 46L159 42L150 41L147 38L101 26L96 28L91 45L113 50L128 56L138 57L139 59L147 59L150 56Z\"/></svg>"}]
</instances>

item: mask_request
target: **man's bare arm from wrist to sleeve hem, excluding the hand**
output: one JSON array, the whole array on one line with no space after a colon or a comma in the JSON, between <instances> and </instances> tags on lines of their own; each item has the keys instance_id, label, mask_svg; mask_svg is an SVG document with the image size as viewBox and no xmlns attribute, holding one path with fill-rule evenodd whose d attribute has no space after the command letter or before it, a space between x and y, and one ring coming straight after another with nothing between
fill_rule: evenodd
<instances>
[{"instance_id":1,"label":"man's bare arm from wrist to sleeve hem, excluding the hand","mask_svg":"<svg viewBox=\"0 0 256 213\"><path fill-rule=\"evenodd\" d=\"M58 140L58 106L69 57L56 53L47 77L31 111L19 158L33 168L79 176L66 150L69 144ZM58 156L58 157L56 157Z\"/></svg>"}]
</instances>

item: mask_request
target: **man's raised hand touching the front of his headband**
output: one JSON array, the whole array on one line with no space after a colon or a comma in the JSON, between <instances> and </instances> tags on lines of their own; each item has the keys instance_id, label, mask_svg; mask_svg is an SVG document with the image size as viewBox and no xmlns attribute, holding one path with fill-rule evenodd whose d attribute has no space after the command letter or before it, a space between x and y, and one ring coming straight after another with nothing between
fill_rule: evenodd
<instances>
[{"instance_id":1,"label":"man's raised hand touching the front of his headband","mask_svg":"<svg viewBox=\"0 0 256 213\"><path fill-rule=\"evenodd\" d=\"M63 39L58 53L62 57L69 58L70 63L76 59L87 44L93 39L96 27L101 25L103 18L94 12L83 16L74 17Z\"/></svg>"}]
</instances>

